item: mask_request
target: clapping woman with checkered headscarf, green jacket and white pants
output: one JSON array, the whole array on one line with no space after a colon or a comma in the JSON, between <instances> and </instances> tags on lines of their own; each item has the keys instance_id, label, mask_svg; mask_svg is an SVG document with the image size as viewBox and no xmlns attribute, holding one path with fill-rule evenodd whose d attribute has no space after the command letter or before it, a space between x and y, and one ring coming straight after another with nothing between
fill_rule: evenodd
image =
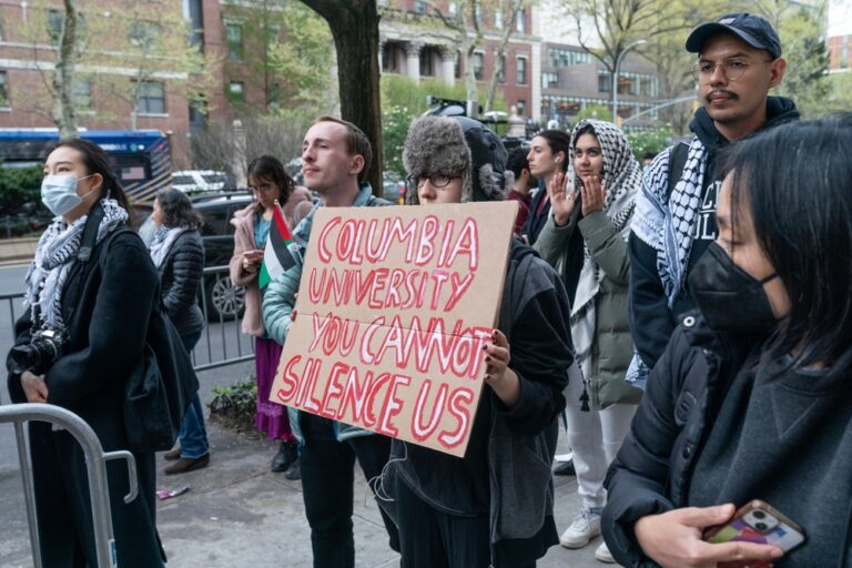
<instances>
[{"instance_id":1,"label":"clapping woman with checkered headscarf, green jacket and white pants","mask_svg":"<svg viewBox=\"0 0 852 568\"><path fill-rule=\"evenodd\" d=\"M566 392L568 442L582 507L562 532L566 548L600 535L604 477L621 446L641 390L625 381L633 353L627 313L627 235L640 190L639 163L609 122L580 121L571 132L567 176L548 184L552 215L536 241L571 301L577 361ZM606 544L595 554L611 562Z\"/></svg>"}]
</instances>

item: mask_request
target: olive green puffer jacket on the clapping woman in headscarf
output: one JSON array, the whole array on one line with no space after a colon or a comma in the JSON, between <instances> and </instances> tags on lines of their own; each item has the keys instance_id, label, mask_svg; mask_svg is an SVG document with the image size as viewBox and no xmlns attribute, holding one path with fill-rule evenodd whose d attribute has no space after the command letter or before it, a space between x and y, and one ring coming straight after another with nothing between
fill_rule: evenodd
<instances>
[{"instance_id":1,"label":"olive green puffer jacket on the clapping woman in headscarf","mask_svg":"<svg viewBox=\"0 0 852 568\"><path fill-rule=\"evenodd\" d=\"M605 274L595 301L596 329L589 393L592 407L604 409L619 403L638 404L642 390L625 381L633 356L627 313L630 276L627 242L618 234L606 213L591 213L579 222L578 217L579 207L565 226L556 226L550 216L538 235L535 248L565 280L566 271L580 270L580 266L566 265L568 241L576 229L580 230L589 252Z\"/></svg>"}]
</instances>

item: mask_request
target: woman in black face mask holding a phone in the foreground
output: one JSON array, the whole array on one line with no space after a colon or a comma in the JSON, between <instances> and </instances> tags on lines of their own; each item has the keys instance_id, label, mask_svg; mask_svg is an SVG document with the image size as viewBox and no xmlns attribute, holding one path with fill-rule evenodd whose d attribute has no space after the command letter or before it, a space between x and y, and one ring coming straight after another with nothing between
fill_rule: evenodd
<instances>
[{"instance_id":1,"label":"woman in black face mask holding a phone in the foreground","mask_svg":"<svg viewBox=\"0 0 852 568\"><path fill-rule=\"evenodd\" d=\"M619 564L852 566L850 155L852 115L726 156L719 237L689 276L700 313L609 471ZM754 499L772 508L732 519Z\"/></svg>"}]
</instances>

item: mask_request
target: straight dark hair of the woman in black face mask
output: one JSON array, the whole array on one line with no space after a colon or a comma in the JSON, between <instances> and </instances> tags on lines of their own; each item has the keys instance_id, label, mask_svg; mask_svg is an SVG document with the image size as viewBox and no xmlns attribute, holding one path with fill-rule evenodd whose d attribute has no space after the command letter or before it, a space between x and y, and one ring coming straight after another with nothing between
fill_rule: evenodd
<instances>
[{"instance_id":1,"label":"straight dark hair of the woman in black face mask","mask_svg":"<svg viewBox=\"0 0 852 568\"><path fill-rule=\"evenodd\" d=\"M852 114L792 122L744 139L724 156L731 213L749 207L754 233L790 297L769 341L792 365L852 365ZM836 375L835 375L836 376Z\"/></svg>"}]
</instances>

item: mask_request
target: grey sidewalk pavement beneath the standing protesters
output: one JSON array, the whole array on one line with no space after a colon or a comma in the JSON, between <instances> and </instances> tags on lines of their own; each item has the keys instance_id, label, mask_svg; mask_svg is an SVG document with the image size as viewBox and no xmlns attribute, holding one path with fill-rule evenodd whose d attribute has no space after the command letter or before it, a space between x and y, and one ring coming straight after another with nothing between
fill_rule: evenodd
<instances>
[{"instance_id":1,"label":"grey sidewalk pavement beneath the standing protesters","mask_svg":"<svg viewBox=\"0 0 852 568\"><path fill-rule=\"evenodd\" d=\"M204 375L202 373L201 375ZM202 399L210 399L209 388ZM220 382L220 384L222 384ZM310 568L311 535L302 503L301 481L288 481L270 471L276 444L236 434L207 422L210 466L176 476L164 476L166 462L158 456L158 489L189 486L190 491L159 501L158 528L169 556L169 567L201 568ZM557 453L567 450L564 439ZM364 568L398 568L398 555L387 546L377 505L358 467L354 525L355 564ZM580 500L574 477L556 477L556 519L561 531ZM27 514L17 470L0 471L0 566L31 567ZM599 568L595 549L600 538L581 550L552 547L539 568Z\"/></svg>"}]
</instances>

